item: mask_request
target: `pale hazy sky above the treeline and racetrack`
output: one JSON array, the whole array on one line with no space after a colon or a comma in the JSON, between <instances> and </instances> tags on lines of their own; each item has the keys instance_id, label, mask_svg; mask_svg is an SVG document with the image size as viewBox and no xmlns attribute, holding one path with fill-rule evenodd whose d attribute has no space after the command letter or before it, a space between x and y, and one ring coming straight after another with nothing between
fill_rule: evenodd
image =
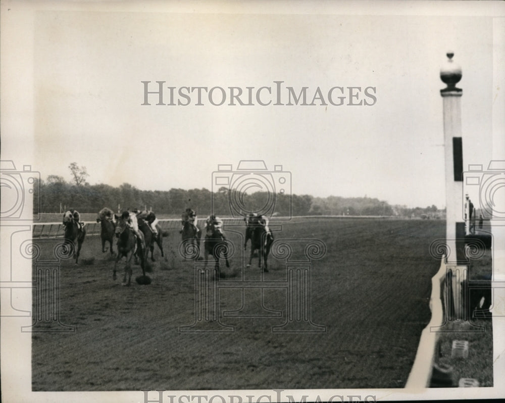
<instances>
[{"instance_id":1,"label":"pale hazy sky above the treeline and racetrack","mask_svg":"<svg viewBox=\"0 0 505 403\"><path fill-rule=\"evenodd\" d=\"M491 158L488 17L40 11L34 16L34 166L70 181L142 190L212 189L220 164L263 160L291 192L445 206L440 66L463 70L464 164ZM197 106L144 102L144 84L283 81L309 101L321 88L373 87L373 105ZM370 89L370 91L372 91ZM335 92L335 94L338 94ZM219 90L214 93L219 101ZM229 95L228 95L229 96ZM206 98L207 97L207 98ZM262 97L270 100L263 90ZM255 97L253 96L253 99ZM272 103L275 103L275 97ZM179 97L183 102L184 98ZM247 97L242 96L247 102ZM216 101L215 103L218 103ZM287 103L283 100L284 103ZM177 103L177 97L176 101ZM473 189L470 189L470 193ZM475 195L475 199L477 199Z\"/></svg>"}]
</instances>

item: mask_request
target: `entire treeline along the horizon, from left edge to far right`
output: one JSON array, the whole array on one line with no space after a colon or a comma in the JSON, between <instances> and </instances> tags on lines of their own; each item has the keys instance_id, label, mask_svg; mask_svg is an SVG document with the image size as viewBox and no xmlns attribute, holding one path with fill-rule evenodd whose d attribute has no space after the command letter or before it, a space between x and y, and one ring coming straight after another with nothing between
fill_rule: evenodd
<instances>
[{"instance_id":1,"label":"entire treeline along the horizon, from left edge to far right","mask_svg":"<svg viewBox=\"0 0 505 403\"><path fill-rule=\"evenodd\" d=\"M231 215L230 201L236 206L243 202L248 210L261 211L272 197L266 192L238 194L226 187L214 194L205 188L177 189L168 191L140 190L124 183L119 187L105 184L73 184L62 177L49 175L46 181L35 186L34 213L60 213L63 210L75 209L80 213L96 213L104 207L118 212L124 210L151 209L157 214L179 216L187 207L198 215L209 215L211 201L213 212L218 215ZM39 194L40 192L40 194ZM40 207L40 208L39 208ZM235 209L235 214L237 211ZM370 197L314 197L312 195L275 195L275 207L270 213L287 215L389 215L389 216L425 216L439 218L440 211L435 205L425 208L408 208L401 205L390 205L386 201Z\"/></svg>"}]
</instances>

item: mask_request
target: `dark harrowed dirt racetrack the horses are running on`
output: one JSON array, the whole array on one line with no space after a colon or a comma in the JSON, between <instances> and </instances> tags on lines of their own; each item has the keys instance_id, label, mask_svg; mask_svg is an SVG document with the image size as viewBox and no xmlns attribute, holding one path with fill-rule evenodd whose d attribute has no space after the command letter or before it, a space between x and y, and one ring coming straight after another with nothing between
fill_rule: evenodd
<instances>
[{"instance_id":1,"label":"dark harrowed dirt racetrack the horses are running on","mask_svg":"<svg viewBox=\"0 0 505 403\"><path fill-rule=\"evenodd\" d=\"M178 231L172 230L164 240L165 258L155 249L152 283L133 281L131 287L121 285L124 262L114 281L113 260L102 253L99 237L89 236L82 262L76 266L72 259L64 260L60 268L60 321L75 331L33 333L32 388L403 387L430 319L430 280L439 261L430 256L429 245L443 238L444 225L373 219L285 223L276 239L315 238L326 245L326 255L312 261L311 271L311 319L326 327L319 333L272 332L272 327L286 322L283 288L264 290L265 309L260 289L220 288L220 321L234 326L234 331L180 332L195 321L195 270L193 261L179 255ZM243 228L237 231L243 233ZM257 260L242 269L240 235L226 228L225 232L235 254L220 282L260 281ZM285 281L286 261L271 257L269 263L263 280ZM139 274L140 267L133 265L133 279ZM223 316L224 311L239 309L245 294L249 302L257 302L250 305L256 311L249 314L270 309L281 316ZM52 326L36 324L41 330Z\"/></svg>"}]
</instances>

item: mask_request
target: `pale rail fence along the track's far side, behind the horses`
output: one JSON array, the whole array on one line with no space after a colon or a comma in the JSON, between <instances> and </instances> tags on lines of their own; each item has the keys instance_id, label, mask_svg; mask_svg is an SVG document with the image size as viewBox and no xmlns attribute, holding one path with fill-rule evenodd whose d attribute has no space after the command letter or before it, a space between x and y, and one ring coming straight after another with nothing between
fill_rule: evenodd
<instances>
[{"instance_id":1,"label":"pale rail fence along the track's far side, behind the horses","mask_svg":"<svg viewBox=\"0 0 505 403\"><path fill-rule=\"evenodd\" d=\"M405 217L389 215L299 215L294 217L274 217L270 224L282 225L284 223L300 222L307 219L405 219ZM243 218L221 218L224 226L244 226ZM84 221L86 236L100 235L101 224L96 221ZM182 228L180 218L164 218L159 220L162 230L180 230ZM204 227L205 219L199 219L197 225ZM63 238L63 223L60 222L34 222L33 238Z\"/></svg>"}]
</instances>

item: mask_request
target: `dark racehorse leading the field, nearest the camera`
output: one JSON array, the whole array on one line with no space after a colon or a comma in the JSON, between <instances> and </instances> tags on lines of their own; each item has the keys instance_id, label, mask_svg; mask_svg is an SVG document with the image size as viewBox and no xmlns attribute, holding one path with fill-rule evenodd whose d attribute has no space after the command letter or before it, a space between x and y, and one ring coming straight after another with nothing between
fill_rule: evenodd
<instances>
[{"instance_id":1,"label":"dark racehorse leading the field, nearest the camera","mask_svg":"<svg viewBox=\"0 0 505 403\"><path fill-rule=\"evenodd\" d=\"M142 236L142 233L140 233ZM126 225L123 219L120 219L118 225L116 226L116 236L118 237L118 256L116 257L116 262L114 263L114 273L112 278L116 280L116 269L119 260L126 257L125 275L123 277L123 285L129 286L131 284L131 258L136 255L140 258L140 267L142 268L143 278L145 278L145 255L144 253L144 240L143 237L136 239L133 231ZM138 253L140 252L140 253ZM128 273L128 283L126 282L126 274Z\"/></svg>"}]
</instances>

